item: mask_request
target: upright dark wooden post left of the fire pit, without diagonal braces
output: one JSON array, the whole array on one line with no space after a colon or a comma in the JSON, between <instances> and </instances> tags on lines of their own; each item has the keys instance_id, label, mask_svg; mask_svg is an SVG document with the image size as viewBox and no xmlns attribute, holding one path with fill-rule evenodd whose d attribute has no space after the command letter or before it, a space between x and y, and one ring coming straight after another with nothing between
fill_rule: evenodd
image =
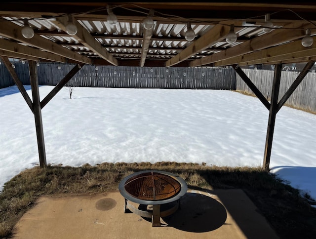
<instances>
[{"instance_id":1,"label":"upright dark wooden post left of the fire pit, without diagonal braces","mask_svg":"<svg viewBox=\"0 0 316 239\"><path fill-rule=\"evenodd\" d=\"M35 118L35 128L36 135L38 139L38 149L40 157L40 167L46 167L46 154L45 154L45 144L44 144L44 133L43 133L43 123L41 119L41 108L40 108L40 90L39 90L39 79L38 71L36 68L35 61L29 61L30 69L30 81L33 97L33 113Z\"/></svg>"}]
</instances>

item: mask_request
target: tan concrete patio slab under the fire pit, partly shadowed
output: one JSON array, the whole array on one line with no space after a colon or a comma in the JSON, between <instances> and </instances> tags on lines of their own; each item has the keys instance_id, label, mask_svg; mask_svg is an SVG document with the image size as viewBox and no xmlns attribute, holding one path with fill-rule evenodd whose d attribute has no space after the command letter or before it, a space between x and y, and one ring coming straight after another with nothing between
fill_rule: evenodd
<instances>
[{"instance_id":1,"label":"tan concrete patio slab under the fire pit, partly shadowed","mask_svg":"<svg viewBox=\"0 0 316 239\"><path fill-rule=\"evenodd\" d=\"M13 230L19 239L277 239L242 190L188 190L181 207L161 218L124 213L124 198L110 192L40 197Z\"/></svg>"}]
</instances>

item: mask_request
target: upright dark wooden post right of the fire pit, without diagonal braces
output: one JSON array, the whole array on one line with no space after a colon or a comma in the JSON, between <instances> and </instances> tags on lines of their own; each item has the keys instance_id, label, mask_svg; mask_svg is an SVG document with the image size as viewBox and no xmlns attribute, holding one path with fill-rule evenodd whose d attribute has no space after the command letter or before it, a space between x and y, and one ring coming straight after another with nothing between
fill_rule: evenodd
<instances>
[{"instance_id":1,"label":"upright dark wooden post right of the fire pit, without diagonal braces","mask_svg":"<svg viewBox=\"0 0 316 239\"><path fill-rule=\"evenodd\" d=\"M263 165L262 165L263 169L265 170L269 170L269 165L270 165L272 140L273 140L273 133L274 133L275 122L276 122L277 100L278 100L278 92L280 88L281 73L282 73L282 64L277 64L275 68L275 75L274 75L273 85L272 85L269 121L268 121L265 153L264 153L264 159L263 159Z\"/></svg>"}]
</instances>

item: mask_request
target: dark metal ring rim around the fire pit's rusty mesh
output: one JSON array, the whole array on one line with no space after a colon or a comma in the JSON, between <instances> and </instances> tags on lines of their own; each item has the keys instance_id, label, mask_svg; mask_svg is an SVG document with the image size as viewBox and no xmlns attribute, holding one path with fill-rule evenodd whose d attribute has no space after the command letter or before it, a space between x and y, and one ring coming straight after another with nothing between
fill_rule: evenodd
<instances>
[{"instance_id":1,"label":"dark metal ring rim around the fire pit's rusty mesh","mask_svg":"<svg viewBox=\"0 0 316 239\"><path fill-rule=\"evenodd\" d=\"M150 172L154 172L154 173L160 173L163 175L167 175L171 178L173 178L174 180L176 180L180 186L180 192L175 195L172 198L169 199L163 199L163 200L145 200L145 199L137 199L135 197L133 197L131 194L129 194L126 189L125 189L125 183L132 177L143 174L143 173L150 173ZM120 192L120 194L127 200L130 200L132 202L138 203L138 204L144 204L144 205L159 205L159 204L164 204L164 203L169 203L169 202L173 202L176 201L178 199L180 199L181 197L183 197L186 192L188 190L188 185L186 183L186 181L181 178L179 175L167 172L167 171L162 171L162 170L143 170L143 171L138 171L135 173L132 173L128 176L126 176L125 178L123 178L118 185L118 191Z\"/></svg>"}]
</instances>

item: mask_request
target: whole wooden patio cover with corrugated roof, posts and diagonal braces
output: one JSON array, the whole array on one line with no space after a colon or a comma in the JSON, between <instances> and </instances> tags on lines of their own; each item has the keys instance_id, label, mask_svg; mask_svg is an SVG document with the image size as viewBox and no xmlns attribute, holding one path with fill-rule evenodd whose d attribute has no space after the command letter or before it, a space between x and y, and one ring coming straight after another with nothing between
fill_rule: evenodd
<instances>
[{"instance_id":1,"label":"whole wooden patio cover with corrugated roof, posts and diagonal braces","mask_svg":"<svg viewBox=\"0 0 316 239\"><path fill-rule=\"evenodd\" d=\"M46 166L41 109L84 65L232 66L269 111L263 168L276 114L316 61L316 3L2 2L0 57L35 117ZM32 99L9 58L28 61ZM40 101L37 63L74 63ZM305 63L278 101L282 64ZM240 67L275 65L270 102Z\"/></svg>"}]
</instances>

